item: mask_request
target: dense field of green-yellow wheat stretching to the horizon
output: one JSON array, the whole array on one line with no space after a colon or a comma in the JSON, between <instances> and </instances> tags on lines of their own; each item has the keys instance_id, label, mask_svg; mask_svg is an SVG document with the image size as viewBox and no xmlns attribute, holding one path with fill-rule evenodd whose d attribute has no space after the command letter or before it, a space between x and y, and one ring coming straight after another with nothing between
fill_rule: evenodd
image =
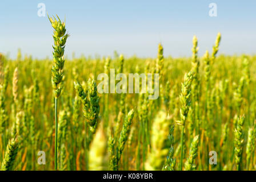
<instances>
[{"instance_id":1,"label":"dense field of green-yellow wheat stretching to the horizon","mask_svg":"<svg viewBox=\"0 0 256 182\"><path fill-rule=\"evenodd\" d=\"M63 68L68 36L55 34L54 61L0 55L2 170L256 169L256 56L218 55L218 34L203 57L194 37L191 57L159 44L157 58L81 56ZM159 97L98 92L110 69L159 73Z\"/></svg>"}]
</instances>

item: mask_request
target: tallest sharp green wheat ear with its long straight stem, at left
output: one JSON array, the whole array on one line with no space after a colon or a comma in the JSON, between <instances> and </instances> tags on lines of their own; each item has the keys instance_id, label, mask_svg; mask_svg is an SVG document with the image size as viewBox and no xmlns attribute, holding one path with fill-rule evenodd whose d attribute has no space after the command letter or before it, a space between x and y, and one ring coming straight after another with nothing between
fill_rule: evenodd
<instances>
[{"instance_id":1,"label":"tallest sharp green wheat ear with its long straight stem, at left","mask_svg":"<svg viewBox=\"0 0 256 182\"><path fill-rule=\"evenodd\" d=\"M57 15L56 15L57 16ZM48 16L49 18L49 16ZM59 17L58 20L53 17L49 18L51 26L54 28L53 39L53 67L51 68L51 84L54 89L55 98L55 170L57 170L57 140L58 140L58 97L61 95L61 82L63 78L63 67L65 63L64 49L66 40L69 34L66 34L65 22L61 22Z\"/></svg>"}]
</instances>

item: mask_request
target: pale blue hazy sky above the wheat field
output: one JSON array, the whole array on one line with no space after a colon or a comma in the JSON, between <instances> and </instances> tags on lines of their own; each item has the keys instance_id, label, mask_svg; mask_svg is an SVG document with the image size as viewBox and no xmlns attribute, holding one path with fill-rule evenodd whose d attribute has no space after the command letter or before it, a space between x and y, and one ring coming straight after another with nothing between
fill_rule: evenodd
<instances>
[{"instance_id":1,"label":"pale blue hazy sky above the wheat field","mask_svg":"<svg viewBox=\"0 0 256 182\"><path fill-rule=\"evenodd\" d=\"M256 53L256 1L6 1L0 2L0 52L16 57L17 49L39 59L51 56L49 20L37 15L38 3L49 15L66 17L70 33L65 53L78 57L113 55L155 57L163 44L165 56L190 56L193 35L199 55L211 49L222 33L220 53ZM217 17L209 4L217 4Z\"/></svg>"}]
</instances>

